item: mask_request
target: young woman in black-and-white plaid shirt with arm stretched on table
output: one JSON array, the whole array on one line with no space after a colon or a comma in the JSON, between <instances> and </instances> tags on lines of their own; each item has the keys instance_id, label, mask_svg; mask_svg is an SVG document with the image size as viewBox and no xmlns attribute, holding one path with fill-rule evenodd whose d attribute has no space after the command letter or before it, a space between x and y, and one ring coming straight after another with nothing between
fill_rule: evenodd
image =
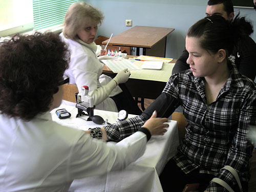
<instances>
[{"instance_id":1,"label":"young woman in black-and-white plaid shirt with arm stretched on table","mask_svg":"<svg viewBox=\"0 0 256 192\"><path fill-rule=\"evenodd\" d=\"M140 115L105 127L109 140L120 141L150 118L169 117L181 105L188 122L177 155L165 166L160 181L164 191L182 191L187 183L200 183L201 191L225 191L210 182L218 177L234 191L238 184L225 165L233 167L248 191L252 143L248 125L256 121L255 83L228 60L234 40L252 30L244 17L226 21L205 17L187 32L189 70L170 77L162 94Z\"/></svg>"}]
</instances>

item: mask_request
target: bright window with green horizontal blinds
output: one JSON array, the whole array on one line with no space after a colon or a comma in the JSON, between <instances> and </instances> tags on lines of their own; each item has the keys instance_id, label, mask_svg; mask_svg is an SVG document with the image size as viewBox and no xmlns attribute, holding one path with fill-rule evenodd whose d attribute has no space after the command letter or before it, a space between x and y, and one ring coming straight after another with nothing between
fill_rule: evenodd
<instances>
[{"instance_id":1,"label":"bright window with green horizontal blinds","mask_svg":"<svg viewBox=\"0 0 256 192\"><path fill-rule=\"evenodd\" d=\"M0 0L0 37L62 26L68 8L75 2L77 0Z\"/></svg>"}]
</instances>

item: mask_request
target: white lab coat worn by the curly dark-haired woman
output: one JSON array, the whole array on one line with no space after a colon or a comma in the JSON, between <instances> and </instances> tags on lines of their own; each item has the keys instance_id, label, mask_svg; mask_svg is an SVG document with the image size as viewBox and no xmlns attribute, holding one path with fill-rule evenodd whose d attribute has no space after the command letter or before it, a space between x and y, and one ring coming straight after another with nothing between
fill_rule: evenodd
<instances>
[{"instance_id":1,"label":"white lab coat worn by the curly dark-haired woman","mask_svg":"<svg viewBox=\"0 0 256 192\"><path fill-rule=\"evenodd\" d=\"M0 191L45 192L124 168L144 153L147 139L136 132L108 144L52 121L48 112L31 121L0 115L0 141Z\"/></svg>"}]
</instances>

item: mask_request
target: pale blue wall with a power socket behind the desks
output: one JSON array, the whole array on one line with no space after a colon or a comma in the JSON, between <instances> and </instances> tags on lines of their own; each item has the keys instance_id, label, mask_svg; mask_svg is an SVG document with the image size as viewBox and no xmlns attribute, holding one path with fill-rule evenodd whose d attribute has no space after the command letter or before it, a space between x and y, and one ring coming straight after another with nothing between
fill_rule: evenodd
<instances>
[{"instance_id":1,"label":"pale blue wall with a power socket behind the desks","mask_svg":"<svg viewBox=\"0 0 256 192\"><path fill-rule=\"evenodd\" d=\"M206 0L88 0L87 3L104 13L103 24L98 35L117 35L131 27L125 26L125 19L132 19L133 26L175 28L167 36L166 57L179 58L185 47L188 28L205 16ZM242 16L251 20L256 30L254 9L235 8ZM256 33L251 36L256 40Z\"/></svg>"}]
</instances>

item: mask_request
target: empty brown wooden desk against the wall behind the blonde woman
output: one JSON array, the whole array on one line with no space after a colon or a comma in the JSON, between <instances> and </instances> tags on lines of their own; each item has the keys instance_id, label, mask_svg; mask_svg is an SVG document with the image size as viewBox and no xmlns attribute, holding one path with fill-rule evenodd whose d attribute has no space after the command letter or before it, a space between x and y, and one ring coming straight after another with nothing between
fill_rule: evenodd
<instances>
[{"instance_id":1,"label":"empty brown wooden desk against the wall behind the blonde woman","mask_svg":"<svg viewBox=\"0 0 256 192\"><path fill-rule=\"evenodd\" d=\"M173 28L135 26L111 38L109 45L143 49L142 55L165 57L166 38ZM102 42L106 45L108 40Z\"/></svg>"}]
</instances>

